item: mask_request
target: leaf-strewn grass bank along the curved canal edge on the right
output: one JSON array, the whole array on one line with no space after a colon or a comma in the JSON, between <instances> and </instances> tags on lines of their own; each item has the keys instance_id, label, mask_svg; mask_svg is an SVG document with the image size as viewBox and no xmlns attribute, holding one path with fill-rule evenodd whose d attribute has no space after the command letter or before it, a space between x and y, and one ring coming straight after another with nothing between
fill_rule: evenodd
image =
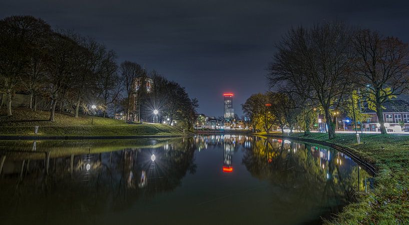
<instances>
[{"instance_id":1,"label":"leaf-strewn grass bank along the curved canal edge on the right","mask_svg":"<svg viewBox=\"0 0 409 225\"><path fill-rule=\"evenodd\" d=\"M317 133L291 136L348 148L378 171L374 190L359 193L357 203L346 206L327 224L409 224L409 136L361 134L359 145L355 134L337 134L332 140Z\"/></svg>"}]
</instances>

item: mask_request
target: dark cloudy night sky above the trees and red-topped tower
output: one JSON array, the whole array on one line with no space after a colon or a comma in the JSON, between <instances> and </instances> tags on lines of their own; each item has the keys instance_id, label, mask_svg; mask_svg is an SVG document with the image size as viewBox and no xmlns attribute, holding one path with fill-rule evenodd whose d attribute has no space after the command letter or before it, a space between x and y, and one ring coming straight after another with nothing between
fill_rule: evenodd
<instances>
[{"instance_id":1,"label":"dark cloudy night sky above the trees and red-topped tower","mask_svg":"<svg viewBox=\"0 0 409 225\"><path fill-rule=\"evenodd\" d=\"M186 87L199 113L235 112L264 92L274 43L291 26L344 20L409 42L409 1L375 0L1 0L0 17L30 14L53 28L104 42L124 60L145 64Z\"/></svg>"}]
</instances>

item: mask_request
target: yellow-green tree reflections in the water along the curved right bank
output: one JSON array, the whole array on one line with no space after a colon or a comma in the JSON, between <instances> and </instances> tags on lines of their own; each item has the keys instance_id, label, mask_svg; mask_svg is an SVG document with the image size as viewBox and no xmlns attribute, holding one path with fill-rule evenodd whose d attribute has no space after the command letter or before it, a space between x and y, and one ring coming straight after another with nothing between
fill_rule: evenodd
<instances>
[{"instance_id":1,"label":"yellow-green tree reflections in the water along the curved right bank","mask_svg":"<svg viewBox=\"0 0 409 225\"><path fill-rule=\"evenodd\" d=\"M271 138L255 138L252 146L245 151L243 164L252 176L269 181L282 192L291 193L290 198L282 199L279 204L288 207L328 206L323 214L336 213L351 201L351 193L358 187L354 172L358 166L351 160L348 162L353 164L352 167L338 165L338 155L333 149ZM363 170L360 173L362 184L362 174L369 176Z\"/></svg>"}]
</instances>

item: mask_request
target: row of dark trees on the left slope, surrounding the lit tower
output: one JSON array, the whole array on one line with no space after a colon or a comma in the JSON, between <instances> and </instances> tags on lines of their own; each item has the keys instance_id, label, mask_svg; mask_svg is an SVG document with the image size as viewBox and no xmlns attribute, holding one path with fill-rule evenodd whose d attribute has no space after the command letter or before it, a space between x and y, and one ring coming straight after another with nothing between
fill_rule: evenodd
<instances>
[{"instance_id":1,"label":"row of dark trees on the left slope, surrounding the lit tower","mask_svg":"<svg viewBox=\"0 0 409 225\"><path fill-rule=\"evenodd\" d=\"M2 115L25 106L48 111L51 122L60 112L193 130L198 107L177 82L136 62L118 65L115 51L94 38L33 16L0 20L0 94Z\"/></svg>"}]
</instances>

